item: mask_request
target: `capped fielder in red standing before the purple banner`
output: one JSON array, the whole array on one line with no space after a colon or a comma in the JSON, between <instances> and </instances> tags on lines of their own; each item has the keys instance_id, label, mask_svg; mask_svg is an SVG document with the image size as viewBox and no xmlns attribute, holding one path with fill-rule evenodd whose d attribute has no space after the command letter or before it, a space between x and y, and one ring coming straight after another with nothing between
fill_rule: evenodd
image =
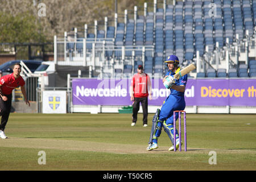
<instances>
[{"instance_id":1,"label":"capped fielder in red standing before the purple banner","mask_svg":"<svg viewBox=\"0 0 256 182\"><path fill-rule=\"evenodd\" d=\"M138 65L137 69L138 73L131 78L131 101L133 102L133 120L131 126L135 126L137 122L137 114L139 111L139 103L141 102L142 110L143 110L143 126L147 126L147 106L148 100L147 97L151 98L151 81L150 77L143 73L143 66ZM149 92L148 92L149 90Z\"/></svg>"}]
</instances>

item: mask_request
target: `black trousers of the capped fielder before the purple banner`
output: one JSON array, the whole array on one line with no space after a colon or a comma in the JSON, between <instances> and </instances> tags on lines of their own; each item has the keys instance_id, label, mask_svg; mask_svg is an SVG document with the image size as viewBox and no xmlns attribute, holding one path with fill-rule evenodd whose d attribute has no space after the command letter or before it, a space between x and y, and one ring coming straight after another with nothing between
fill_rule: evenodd
<instances>
[{"instance_id":1,"label":"black trousers of the capped fielder before the purple banner","mask_svg":"<svg viewBox=\"0 0 256 182\"><path fill-rule=\"evenodd\" d=\"M134 97L134 103L133 103L133 121L137 122L137 114L139 111L139 103L142 105L142 111L143 111L143 125L147 124L147 97Z\"/></svg>"}]
</instances>

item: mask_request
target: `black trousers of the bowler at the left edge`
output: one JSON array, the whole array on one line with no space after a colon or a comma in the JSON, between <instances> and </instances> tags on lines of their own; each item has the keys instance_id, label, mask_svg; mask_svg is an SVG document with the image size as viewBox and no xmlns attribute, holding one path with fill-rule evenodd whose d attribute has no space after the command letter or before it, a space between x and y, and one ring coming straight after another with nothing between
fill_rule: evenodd
<instances>
[{"instance_id":1,"label":"black trousers of the bowler at the left edge","mask_svg":"<svg viewBox=\"0 0 256 182\"><path fill-rule=\"evenodd\" d=\"M4 131L5 130L5 126L7 124L7 121L9 119L9 115L10 115L10 111L11 111L11 100L12 100L12 96L7 95L6 96L8 98L7 101L3 101L2 97L0 97L0 115L2 115L1 118L1 125L0 125L0 130Z\"/></svg>"}]
</instances>

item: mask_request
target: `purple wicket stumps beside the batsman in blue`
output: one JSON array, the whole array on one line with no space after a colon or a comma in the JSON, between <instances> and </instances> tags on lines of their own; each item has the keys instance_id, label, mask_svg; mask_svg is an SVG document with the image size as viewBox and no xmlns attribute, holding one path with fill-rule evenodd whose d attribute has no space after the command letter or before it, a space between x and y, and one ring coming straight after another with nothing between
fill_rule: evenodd
<instances>
[{"instance_id":1,"label":"purple wicket stumps beside the batsman in blue","mask_svg":"<svg viewBox=\"0 0 256 182\"><path fill-rule=\"evenodd\" d=\"M181 151L181 113L184 115L184 151L187 151L187 124L186 124L186 112L184 110L175 110L174 111L174 151L176 151L176 119L175 113L179 112L179 150Z\"/></svg>"}]
</instances>

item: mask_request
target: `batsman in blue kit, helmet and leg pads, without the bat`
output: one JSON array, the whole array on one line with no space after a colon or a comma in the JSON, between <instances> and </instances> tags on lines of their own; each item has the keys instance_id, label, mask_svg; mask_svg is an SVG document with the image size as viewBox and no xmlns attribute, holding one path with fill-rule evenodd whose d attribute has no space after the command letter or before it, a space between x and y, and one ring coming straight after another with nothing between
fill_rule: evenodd
<instances>
[{"instance_id":1,"label":"batsman in blue kit, helmet and leg pads, without the bat","mask_svg":"<svg viewBox=\"0 0 256 182\"><path fill-rule=\"evenodd\" d=\"M150 134L150 141L148 142L147 150L154 150L158 148L158 137L160 137L162 127L166 131L168 137L171 139L172 146L169 151L174 150L174 111L185 109L184 91L187 84L187 75L181 76L174 80L174 75L180 72L178 67L179 59L175 55L168 56L167 67L169 71L163 78L163 84L167 89L171 90L171 94L164 101L161 110L157 110L152 119L152 129ZM175 113L175 118L178 118L179 113ZM176 148L179 148L179 133L176 130ZM182 144L182 143L181 143Z\"/></svg>"}]
</instances>

